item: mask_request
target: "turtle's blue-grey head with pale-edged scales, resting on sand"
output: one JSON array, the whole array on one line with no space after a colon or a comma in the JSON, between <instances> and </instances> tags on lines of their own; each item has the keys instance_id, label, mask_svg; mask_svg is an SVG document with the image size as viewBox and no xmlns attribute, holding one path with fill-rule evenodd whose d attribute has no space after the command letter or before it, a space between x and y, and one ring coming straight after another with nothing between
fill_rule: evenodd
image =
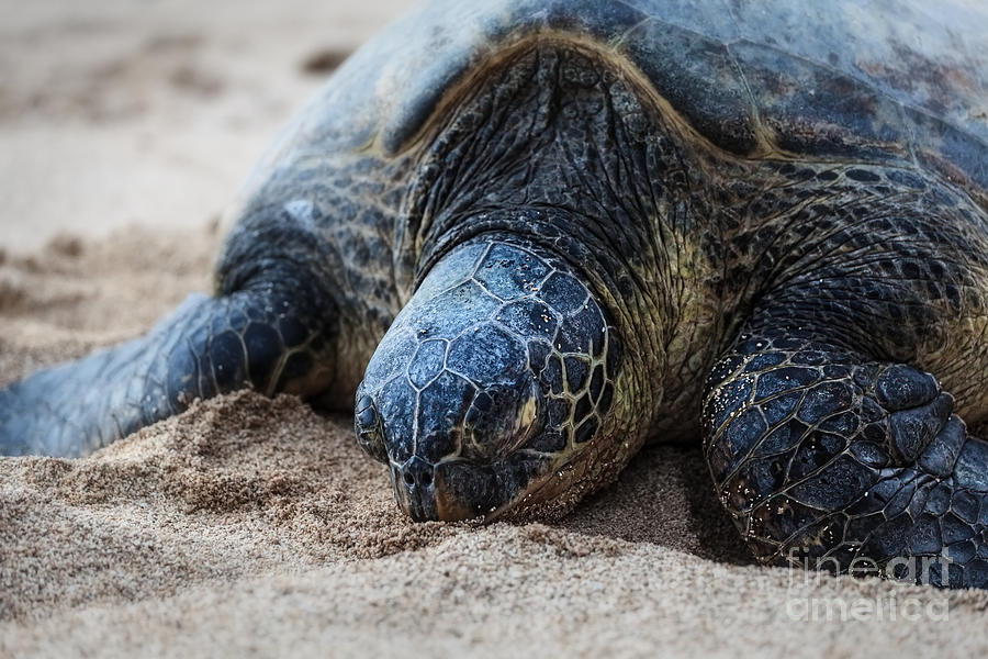
<instances>
[{"instance_id":1,"label":"turtle's blue-grey head with pale-edged scales, resting on sand","mask_svg":"<svg viewBox=\"0 0 988 659\"><path fill-rule=\"evenodd\" d=\"M415 520L572 498L614 399L616 337L561 261L498 241L447 254L357 392L358 443Z\"/></svg>"}]
</instances>

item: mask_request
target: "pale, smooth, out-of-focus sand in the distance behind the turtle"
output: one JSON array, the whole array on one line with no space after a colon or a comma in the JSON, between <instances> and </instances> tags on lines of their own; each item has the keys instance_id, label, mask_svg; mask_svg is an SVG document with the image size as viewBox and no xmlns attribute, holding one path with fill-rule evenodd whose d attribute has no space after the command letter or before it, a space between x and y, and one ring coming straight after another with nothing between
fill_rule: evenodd
<instances>
[{"instance_id":1,"label":"pale, smooth, out-of-focus sand in the distance behind the turtle","mask_svg":"<svg viewBox=\"0 0 988 659\"><path fill-rule=\"evenodd\" d=\"M0 236L200 227L408 0L0 1Z\"/></svg>"}]
</instances>

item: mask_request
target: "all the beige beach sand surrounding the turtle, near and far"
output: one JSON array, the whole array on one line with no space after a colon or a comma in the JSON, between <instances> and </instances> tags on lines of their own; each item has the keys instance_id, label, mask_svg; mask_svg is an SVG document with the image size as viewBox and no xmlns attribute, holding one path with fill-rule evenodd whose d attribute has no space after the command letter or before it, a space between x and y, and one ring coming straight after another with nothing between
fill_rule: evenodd
<instances>
[{"instance_id":1,"label":"all the beige beach sand surrounding the turtle, near and far","mask_svg":"<svg viewBox=\"0 0 988 659\"><path fill-rule=\"evenodd\" d=\"M400 4L0 3L0 382L207 290L216 219L306 69ZM691 449L645 450L560 522L490 526L412 524L350 420L290 396L0 459L2 657L972 657L986 608L754 566Z\"/></svg>"}]
</instances>

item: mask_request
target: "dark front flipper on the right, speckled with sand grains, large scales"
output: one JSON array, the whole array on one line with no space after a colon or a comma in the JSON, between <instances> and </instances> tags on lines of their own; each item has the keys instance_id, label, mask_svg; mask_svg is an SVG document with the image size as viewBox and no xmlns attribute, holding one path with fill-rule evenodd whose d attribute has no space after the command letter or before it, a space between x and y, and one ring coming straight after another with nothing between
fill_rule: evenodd
<instances>
[{"instance_id":1,"label":"dark front flipper on the right, speckled with sand grains, large scales","mask_svg":"<svg viewBox=\"0 0 988 659\"><path fill-rule=\"evenodd\" d=\"M953 405L909 366L750 330L708 381L705 455L762 562L988 588L988 444Z\"/></svg>"}]
</instances>

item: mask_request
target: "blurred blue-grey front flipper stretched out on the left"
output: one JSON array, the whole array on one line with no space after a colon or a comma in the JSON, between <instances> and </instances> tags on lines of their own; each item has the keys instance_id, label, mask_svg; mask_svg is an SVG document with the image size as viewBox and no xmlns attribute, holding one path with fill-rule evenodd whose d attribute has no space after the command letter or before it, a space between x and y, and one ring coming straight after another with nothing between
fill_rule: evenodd
<instances>
[{"instance_id":1,"label":"blurred blue-grey front flipper stretched out on the left","mask_svg":"<svg viewBox=\"0 0 988 659\"><path fill-rule=\"evenodd\" d=\"M0 455L85 455L236 389L318 394L332 351L325 322L300 300L270 286L191 295L143 337L0 390Z\"/></svg>"}]
</instances>

